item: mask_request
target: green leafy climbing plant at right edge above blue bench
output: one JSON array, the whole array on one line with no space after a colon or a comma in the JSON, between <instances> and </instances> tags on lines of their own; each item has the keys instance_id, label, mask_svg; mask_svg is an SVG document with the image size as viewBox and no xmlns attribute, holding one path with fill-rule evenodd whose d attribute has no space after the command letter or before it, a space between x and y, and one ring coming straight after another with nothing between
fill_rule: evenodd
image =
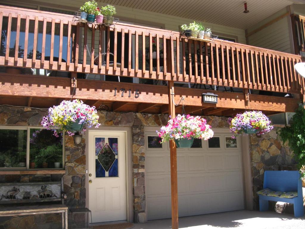
<instances>
[{"instance_id":1,"label":"green leafy climbing plant at right edge above blue bench","mask_svg":"<svg viewBox=\"0 0 305 229\"><path fill-rule=\"evenodd\" d=\"M305 176L303 166L305 165L305 109L304 104L300 104L296 114L292 116L290 126L285 126L280 131L280 138L285 144L288 142L293 156L301 169L302 177Z\"/></svg>"}]
</instances>

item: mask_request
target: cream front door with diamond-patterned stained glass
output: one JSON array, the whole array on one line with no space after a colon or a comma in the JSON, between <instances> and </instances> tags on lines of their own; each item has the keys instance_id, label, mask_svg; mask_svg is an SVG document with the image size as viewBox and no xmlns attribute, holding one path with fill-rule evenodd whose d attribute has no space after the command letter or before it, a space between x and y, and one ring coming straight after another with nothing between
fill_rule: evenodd
<instances>
[{"instance_id":1,"label":"cream front door with diamond-patterned stained glass","mask_svg":"<svg viewBox=\"0 0 305 229\"><path fill-rule=\"evenodd\" d=\"M93 223L127 219L125 154L125 132L89 130L89 209Z\"/></svg>"}]
</instances>

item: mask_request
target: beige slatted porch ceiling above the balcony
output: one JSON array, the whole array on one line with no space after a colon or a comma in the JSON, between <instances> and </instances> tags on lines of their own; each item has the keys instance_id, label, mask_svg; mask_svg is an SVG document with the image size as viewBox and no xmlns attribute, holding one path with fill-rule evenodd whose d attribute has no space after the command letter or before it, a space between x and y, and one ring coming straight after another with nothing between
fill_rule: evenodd
<instances>
[{"instance_id":1,"label":"beige slatted porch ceiling above the balcony","mask_svg":"<svg viewBox=\"0 0 305 229\"><path fill-rule=\"evenodd\" d=\"M107 4L206 21L246 29L292 3L304 0L247 1L249 13L243 13L244 0L98 0Z\"/></svg>"}]
</instances>

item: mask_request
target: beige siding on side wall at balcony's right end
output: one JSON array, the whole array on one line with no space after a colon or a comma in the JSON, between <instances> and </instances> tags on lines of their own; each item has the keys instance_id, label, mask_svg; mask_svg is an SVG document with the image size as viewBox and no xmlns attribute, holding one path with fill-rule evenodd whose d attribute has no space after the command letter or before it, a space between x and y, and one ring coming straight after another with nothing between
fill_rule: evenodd
<instances>
[{"instance_id":1,"label":"beige siding on side wall at balcony's right end","mask_svg":"<svg viewBox=\"0 0 305 229\"><path fill-rule=\"evenodd\" d=\"M248 33L274 20L278 16L285 14L286 12L287 12L286 9L283 9L278 13L268 17L267 19L258 23L256 26L252 27L251 30L248 29ZM293 53L293 49L291 47L292 40L289 33L289 31L291 30L290 23L291 23L290 17L286 16L281 20L278 20L277 22L249 36L248 44L266 49L273 49L286 53Z\"/></svg>"}]
</instances>

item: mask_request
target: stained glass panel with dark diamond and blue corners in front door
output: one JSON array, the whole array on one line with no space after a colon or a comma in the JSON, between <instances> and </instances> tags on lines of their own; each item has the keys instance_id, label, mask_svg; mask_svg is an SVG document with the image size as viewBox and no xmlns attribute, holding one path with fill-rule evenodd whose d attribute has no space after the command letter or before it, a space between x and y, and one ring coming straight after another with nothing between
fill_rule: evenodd
<instances>
[{"instance_id":1,"label":"stained glass panel with dark diamond and blue corners in front door","mask_svg":"<svg viewBox=\"0 0 305 229\"><path fill-rule=\"evenodd\" d=\"M118 177L118 138L95 137L95 177Z\"/></svg>"}]
</instances>

